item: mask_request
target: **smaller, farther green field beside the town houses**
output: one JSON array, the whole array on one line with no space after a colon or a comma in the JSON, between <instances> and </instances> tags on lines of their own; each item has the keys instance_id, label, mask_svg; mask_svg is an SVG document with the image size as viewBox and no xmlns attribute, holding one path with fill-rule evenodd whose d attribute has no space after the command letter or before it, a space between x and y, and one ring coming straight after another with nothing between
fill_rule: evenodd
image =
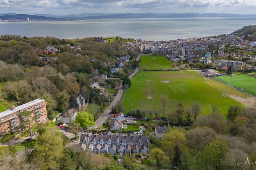
<instances>
[{"instance_id":1,"label":"smaller, farther green field beside the town houses","mask_svg":"<svg viewBox=\"0 0 256 170\"><path fill-rule=\"evenodd\" d=\"M163 55L142 55L140 66L147 70L161 70L159 67L162 66L166 70L171 67L171 62Z\"/></svg>"}]
</instances>

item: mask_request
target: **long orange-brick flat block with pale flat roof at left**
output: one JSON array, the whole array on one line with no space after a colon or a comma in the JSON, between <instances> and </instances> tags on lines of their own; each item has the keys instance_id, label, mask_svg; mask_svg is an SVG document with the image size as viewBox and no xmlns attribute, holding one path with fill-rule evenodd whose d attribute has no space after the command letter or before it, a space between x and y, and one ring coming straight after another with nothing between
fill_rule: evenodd
<instances>
[{"instance_id":1,"label":"long orange-brick flat block with pale flat roof at left","mask_svg":"<svg viewBox=\"0 0 256 170\"><path fill-rule=\"evenodd\" d=\"M0 113L0 138L10 132L15 132L21 121L27 119L27 117L19 117L19 114L23 111L32 111L31 117L36 117L31 121L31 124L35 122L42 123L47 120L46 102L44 99L38 98L17 107L11 106L9 110Z\"/></svg>"}]
</instances>

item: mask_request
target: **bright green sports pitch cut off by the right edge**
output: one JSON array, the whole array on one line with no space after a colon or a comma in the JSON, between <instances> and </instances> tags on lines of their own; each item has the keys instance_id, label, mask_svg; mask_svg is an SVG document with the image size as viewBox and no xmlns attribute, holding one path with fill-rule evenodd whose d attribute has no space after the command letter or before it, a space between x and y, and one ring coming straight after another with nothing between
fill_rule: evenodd
<instances>
[{"instance_id":1,"label":"bright green sports pitch cut off by the right edge","mask_svg":"<svg viewBox=\"0 0 256 170\"><path fill-rule=\"evenodd\" d=\"M249 94L256 96L256 78L240 74L235 76L216 77L219 81L227 83L237 89L241 89Z\"/></svg>"}]
</instances>

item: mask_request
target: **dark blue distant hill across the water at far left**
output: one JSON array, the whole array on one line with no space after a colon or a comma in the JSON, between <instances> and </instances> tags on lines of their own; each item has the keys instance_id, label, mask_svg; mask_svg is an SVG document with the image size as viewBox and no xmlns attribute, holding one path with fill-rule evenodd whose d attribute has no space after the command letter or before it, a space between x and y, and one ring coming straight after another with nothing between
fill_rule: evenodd
<instances>
[{"instance_id":1,"label":"dark blue distant hill across the water at far left","mask_svg":"<svg viewBox=\"0 0 256 170\"><path fill-rule=\"evenodd\" d=\"M27 18L35 21L56 21L57 18L54 17L45 17L38 15L27 15L27 14L15 14L15 15L2 15L0 16L1 20L9 20L9 21L27 21Z\"/></svg>"}]
</instances>

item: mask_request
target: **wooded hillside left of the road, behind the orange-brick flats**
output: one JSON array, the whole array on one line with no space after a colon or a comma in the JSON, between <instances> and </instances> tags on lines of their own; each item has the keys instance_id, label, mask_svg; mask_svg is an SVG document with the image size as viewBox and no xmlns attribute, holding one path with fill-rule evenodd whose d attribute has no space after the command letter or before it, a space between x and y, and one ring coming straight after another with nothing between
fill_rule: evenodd
<instances>
[{"instance_id":1,"label":"wooded hillside left of the road, behind the orange-brick flats","mask_svg":"<svg viewBox=\"0 0 256 170\"><path fill-rule=\"evenodd\" d=\"M54 119L54 112L65 111L71 100L79 93L83 93L85 98L89 99L87 102L104 108L104 102L107 100L100 95L98 89L90 87L90 79L95 70L98 70L99 74L111 76L110 69L114 67L115 58L127 54L121 48L121 43L127 39L116 37L113 43L97 43L93 39L66 40L54 37L2 35L0 111L9 108L8 102L17 106L36 98L44 98L47 102L48 117ZM40 59L42 56L52 57L43 55L48 45L58 48L58 60ZM75 51L71 47L81 47L81 50ZM36 48L40 50L34 50ZM132 53L130 54L132 56ZM102 80L96 81L101 85L106 83ZM112 84L115 87L120 82L114 81Z\"/></svg>"}]
</instances>

